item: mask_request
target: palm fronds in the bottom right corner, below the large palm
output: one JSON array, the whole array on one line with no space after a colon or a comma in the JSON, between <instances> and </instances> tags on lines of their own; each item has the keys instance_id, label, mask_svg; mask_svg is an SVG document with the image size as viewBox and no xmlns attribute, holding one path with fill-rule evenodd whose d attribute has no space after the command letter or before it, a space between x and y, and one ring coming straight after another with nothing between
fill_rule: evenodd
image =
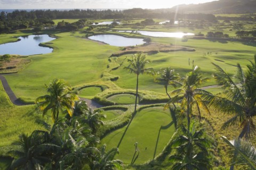
<instances>
[{"instance_id":1,"label":"palm fronds in the bottom right corner, below the large palm","mask_svg":"<svg viewBox=\"0 0 256 170\"><path fill-rule=\"evenodd\" d=\"M223 136L222 139L229 145L231 166L241 165L239 169L256 169L256 149L250 141L241 138L229 141Z\"/></svg>"}]
</instances>

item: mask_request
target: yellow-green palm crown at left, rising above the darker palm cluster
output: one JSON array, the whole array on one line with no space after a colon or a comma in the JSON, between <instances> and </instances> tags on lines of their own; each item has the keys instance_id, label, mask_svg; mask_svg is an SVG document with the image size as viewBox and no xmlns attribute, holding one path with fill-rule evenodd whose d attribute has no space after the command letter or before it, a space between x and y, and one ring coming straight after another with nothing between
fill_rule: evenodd
<instances>
[{"instance_id":1,"label":"yellow-green palm crown at left, rising above the darker palm cluster","mask_svg":"<svg viewBox=\"0 0 256 170\"><path fill-rule=\"evenodd\" d=\"M50 86L46 86L46 89L49 95L36 99L37 107L43 111L43 116L51 110L52 121L55 122L59 118L59 111L63 112L63 109L66 109L68 114L72 116L74 101L78 99L78 96L72 92L71 87L62 80L55 79Z\"/></svg>"}]
</instances>

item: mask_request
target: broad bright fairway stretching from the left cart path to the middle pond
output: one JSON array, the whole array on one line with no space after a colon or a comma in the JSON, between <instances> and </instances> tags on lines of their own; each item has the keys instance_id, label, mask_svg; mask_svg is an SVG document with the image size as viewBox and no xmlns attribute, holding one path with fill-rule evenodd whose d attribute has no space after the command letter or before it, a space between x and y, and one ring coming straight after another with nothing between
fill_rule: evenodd
<instances>
[{"instance_id":1,"label":"broad bright fairway stretching from the left cart path to the middle pond","mask_svg":"<svg viewBox=\"0 0 256 170\"><path fill-rule=\"evenodd\" d=\"M78 32L56 34L60 38L51 41L54 52L29 56L33 60L25 70L5 75L17 97L35 99L45 94L44 84L53 79L64 79L71 86L100 79L107 68L108 57L118 47L102 45L77 36Z\"/></svg>"}]
</instances>

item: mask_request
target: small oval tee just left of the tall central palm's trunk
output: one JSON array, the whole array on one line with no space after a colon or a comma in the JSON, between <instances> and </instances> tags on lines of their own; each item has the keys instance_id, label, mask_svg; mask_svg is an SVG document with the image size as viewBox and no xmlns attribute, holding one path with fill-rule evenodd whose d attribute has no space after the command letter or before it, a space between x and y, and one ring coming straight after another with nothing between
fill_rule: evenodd
<instances>
[{"instance_id":1,"label":"small oval tee just left of the tall central palm's trunk","mask_svg":"<svg viewBox=\"0 0 256 170\"><path fill-rule=\"evenodd\" d=\"M119 94L107 98L110 101L114 101L116 104L134 104L135 95L130 94Z\"/></svg>"}]
</instances>

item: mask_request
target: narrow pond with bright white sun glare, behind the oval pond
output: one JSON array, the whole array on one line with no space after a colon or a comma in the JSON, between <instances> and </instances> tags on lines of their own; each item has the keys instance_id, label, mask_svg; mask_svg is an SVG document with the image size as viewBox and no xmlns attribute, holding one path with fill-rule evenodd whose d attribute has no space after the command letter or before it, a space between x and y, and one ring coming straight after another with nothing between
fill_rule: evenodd
<instances>
[{"instance_id":1,"label":"narrow pond with bright white sun glare, behind the oval pond","mask_svg":"<svg viewBox=\"0 0 256 170\"><path fill-rule=\"evenodd\" d=\"M150 37L169 37L169 38L182 38L184 36L194 36L194 33L189 32L155 32L155 31L118 31L118 32L134 32L134 33L140 33L144 36L150 36Z\"/></svg>"}]
</instances>

